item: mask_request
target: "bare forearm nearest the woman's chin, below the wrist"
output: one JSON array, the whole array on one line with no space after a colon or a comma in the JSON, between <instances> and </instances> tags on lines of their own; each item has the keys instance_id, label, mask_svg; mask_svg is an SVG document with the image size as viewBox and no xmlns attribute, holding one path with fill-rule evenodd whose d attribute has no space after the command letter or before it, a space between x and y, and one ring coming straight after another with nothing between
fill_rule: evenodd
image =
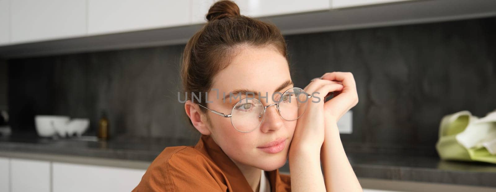
<instances>
[{"instance_id":1,"label":"bare forearm nearest the woman's chin, below the wrist","mask_svg":"<svg viewBox=\"0 0 496 192\"><path fill-rule=\"evenodd\" d=\"M291 170L291 191L325 192L325 184L320 169L319 150L290 148L289 169Z\"/></svg>"}]
</instances>

